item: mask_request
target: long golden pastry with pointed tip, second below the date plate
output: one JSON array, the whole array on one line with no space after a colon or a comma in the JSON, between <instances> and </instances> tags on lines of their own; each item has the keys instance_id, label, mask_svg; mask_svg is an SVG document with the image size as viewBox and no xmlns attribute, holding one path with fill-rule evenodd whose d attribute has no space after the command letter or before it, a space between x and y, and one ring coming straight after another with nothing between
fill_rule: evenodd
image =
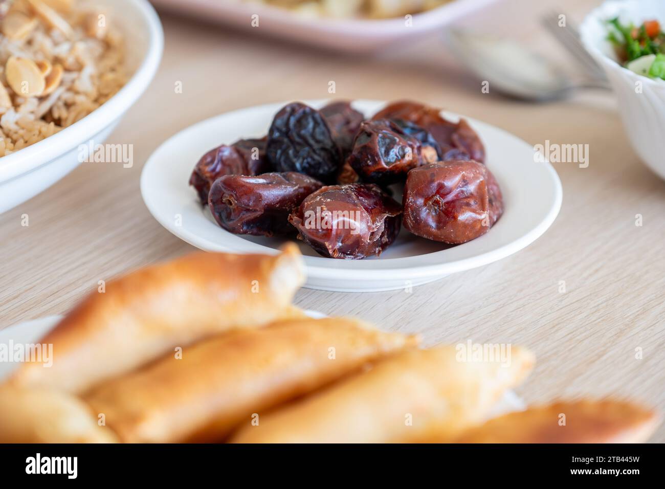
<instances>
[{"instance_id":1,"label":"long golden pastry with pointed tip, second below the date plate","mask_svg":"<svg viewBox=\"0 0 665 489\"><path fill-rule=\"evenodd\" d=\"M219 441L255 412L415 344L352 318L284 321L203 340L84 400L123 442Z\"/></svg>"}]
</instances>

